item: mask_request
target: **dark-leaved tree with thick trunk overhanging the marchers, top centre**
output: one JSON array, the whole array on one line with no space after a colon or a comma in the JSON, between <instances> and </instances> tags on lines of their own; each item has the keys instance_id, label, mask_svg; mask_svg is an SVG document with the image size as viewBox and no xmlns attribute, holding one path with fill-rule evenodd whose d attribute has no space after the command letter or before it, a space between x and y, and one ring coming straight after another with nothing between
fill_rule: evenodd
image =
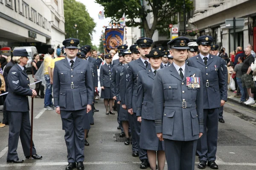
<instances>
[{"instance_id":1,"label":"dark-leaved tree with thick trunk overhanging the marchers, top centre","mask_svg":"<svg viewBox=\"0 0 256 170\"><path fill-rule=\"evenodd\" d=\"M119 22L125 13L126 26L139 26L144 28L146 37L152 38L154 31L166 31L169 24L177 24L171 20L171 15L175 12L183 14L183 0L95 0L104 6L104 14L111 17L115 22ZM192 0L185 0L186 11L193 9ZM149 8L148 8L149 7ZM152 19L149 17L152 15ZM140 22L136 21L140 18ZM149 24L152 20L152 24Z\"/></svg>"}]
</instances>

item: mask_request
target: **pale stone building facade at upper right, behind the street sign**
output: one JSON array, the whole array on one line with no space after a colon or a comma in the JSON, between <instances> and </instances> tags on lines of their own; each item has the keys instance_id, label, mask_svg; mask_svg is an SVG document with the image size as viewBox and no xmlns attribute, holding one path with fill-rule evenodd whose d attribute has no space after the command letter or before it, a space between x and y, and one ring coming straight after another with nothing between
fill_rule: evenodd
<instances>
[{"instance_id":1,"label":"pale stone building facade at upper right, behind the street sign","mask_svg":"<svg viewBox=\"0 0 256 170\"><path fill-rule=\"evenodd\" d=\"M211 35L213 43L226 48L227 52L234 51L237 46L246 48L249 44L256 51L255 0L194 0L194 6L189 25L200 31L198 36ZM242 26L236 27L235 36L232 24L225 23L234 17L244 21Z\"/></svg>"}]
</instances>

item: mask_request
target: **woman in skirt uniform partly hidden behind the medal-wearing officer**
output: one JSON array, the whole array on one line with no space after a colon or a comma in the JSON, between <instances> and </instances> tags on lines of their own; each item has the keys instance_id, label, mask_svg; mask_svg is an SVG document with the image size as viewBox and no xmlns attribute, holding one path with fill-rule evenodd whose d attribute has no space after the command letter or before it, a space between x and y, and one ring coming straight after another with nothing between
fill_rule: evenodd
<instances>
[{"instance_id":1,"label":"woman in skirt uniform partly hidden behind the medal-wearing officer","mask_svg":"<svg viewBox=\"0 0 256 170\"><path fill-rule=\"evenodd\" d=\"M159 170L163 170L165 165L165 152L163 142L161 142L156 135L152 98L154 77L156 72L160 70L162 55L159 50L151 50L149 54L145 55L145 57L149 58L151 67L146 70L139 71L137 79L138 88L136 113L137 120L141 122L140 147L147 150L148 161L151 169L156 170L157 158Z\"/></svg>"}]
</instances>

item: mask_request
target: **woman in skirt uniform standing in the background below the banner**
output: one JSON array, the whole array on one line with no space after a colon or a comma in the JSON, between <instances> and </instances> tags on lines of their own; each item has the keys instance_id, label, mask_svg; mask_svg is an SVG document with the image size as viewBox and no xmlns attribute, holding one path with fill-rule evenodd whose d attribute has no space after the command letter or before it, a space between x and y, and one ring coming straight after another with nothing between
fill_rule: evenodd
<instances>
[{"instance_id":1,"label":"woman in skirt uniform standing in the background below the banner","mask_svg":"<svg viewBox=\"0 0 256 170\"><path fill-rule=\"evenodd\" d=\"M111 54L105 55L106 63L100 67L99 73L99 81L102 89L100 97L104 99L106 114L115 114L113 113L113 95L111 93L111 59Z\"/></svg>"}]
</instances>

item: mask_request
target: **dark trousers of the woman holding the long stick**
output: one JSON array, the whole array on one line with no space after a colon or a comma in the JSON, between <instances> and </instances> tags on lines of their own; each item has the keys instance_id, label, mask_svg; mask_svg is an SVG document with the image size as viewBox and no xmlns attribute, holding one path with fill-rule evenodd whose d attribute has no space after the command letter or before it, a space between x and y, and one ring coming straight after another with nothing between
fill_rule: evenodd
<instances>
[{"instance_id":1,"label":"dark trousers of the woman holding the long stick","mask_svg":"<svg viewBox=\"0 0 256 170\"><path fill-rule=\"evenodd\" d=\"M10 123L7 160L18 159L17 147L19 137L24 155L30 156L31 126L29 112L8 111L8 113ZM32 155L34 155L36 154L34 143L32 147Z\"/></svg>"}]
</instances>

